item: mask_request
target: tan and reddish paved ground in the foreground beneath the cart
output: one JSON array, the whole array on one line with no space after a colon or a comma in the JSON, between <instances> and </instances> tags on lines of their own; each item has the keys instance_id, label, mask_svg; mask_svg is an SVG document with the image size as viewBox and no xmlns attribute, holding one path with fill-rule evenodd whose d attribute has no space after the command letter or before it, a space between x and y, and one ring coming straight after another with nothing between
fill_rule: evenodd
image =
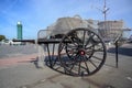
<instances>
[{"instance_id":1,"label":"tan and reddish paved ground in the foreground beneath the cart","mask_svg":"<svg viewBox=\"0 0 132 88\"><path fill-rule=\"evenodd\" d=\"M36 68L36 54L2 57L0 88L132 88L132 44L125 44L119 51L119 68L116 68L114 51L111 48L105 66L97 74L82 78L57 73L47 66Z\"/></svg>"}]
</instances>

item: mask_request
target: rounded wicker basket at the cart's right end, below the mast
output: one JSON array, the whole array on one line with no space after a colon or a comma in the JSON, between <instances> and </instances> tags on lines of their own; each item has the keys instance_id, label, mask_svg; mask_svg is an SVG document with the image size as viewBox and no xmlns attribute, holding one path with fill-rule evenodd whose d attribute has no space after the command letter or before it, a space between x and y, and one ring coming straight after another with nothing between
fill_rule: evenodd
<instances>
[{"instance_id":1,"label":"rounded wicker basket at the cart's right end, below the mast","mask_svg":"<svg viewBox=\"0 0 132 88\"><path fill-rule=\"evenodd\" d=\"M98 23L99 34L102 37L116 38L122 33L124 29L124 22L120 21L101 21Z\"/></svg>"}]
</instances>

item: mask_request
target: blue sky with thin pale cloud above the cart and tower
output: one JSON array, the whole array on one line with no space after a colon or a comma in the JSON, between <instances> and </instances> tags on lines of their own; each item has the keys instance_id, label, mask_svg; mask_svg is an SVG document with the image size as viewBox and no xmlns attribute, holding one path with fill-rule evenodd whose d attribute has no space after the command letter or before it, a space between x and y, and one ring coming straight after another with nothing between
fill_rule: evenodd
<instances>
[{"instance_id":1,"label":"blue sky with thin pale cloud above the cart and tower","mask_svg":"<svg viewBox=\"0 0 132 88\"><path fill-rule=\"evenodd\" d=\"M132 0L107 0L108 20L123 20L132 28ZM79 14L82 19L103 20L103 0L0 0L0 34L16 37L16 22L23 24L23 38L36 38L58 18Z\"/></svg>"}]
</instances>

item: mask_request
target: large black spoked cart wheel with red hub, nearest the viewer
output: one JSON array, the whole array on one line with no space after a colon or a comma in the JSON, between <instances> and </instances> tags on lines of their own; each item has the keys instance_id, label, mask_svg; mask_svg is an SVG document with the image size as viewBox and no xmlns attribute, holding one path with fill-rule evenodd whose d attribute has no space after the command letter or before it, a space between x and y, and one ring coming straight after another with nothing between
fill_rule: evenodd
<instances>
[{"instance_id":1,"label":"large black spoked cart wheel with red hub, nearest the viewer","mask_svg":"<svg viewBox=\"0 0 132 88\"><path fill-rule=\"evenodd\" d=\"M65 74L72 76L96 74L105 64L106 57L103 41L97 33L88 29L76 29L68 32L58 46L58 59Z\"/></svg>"}]
</instances>

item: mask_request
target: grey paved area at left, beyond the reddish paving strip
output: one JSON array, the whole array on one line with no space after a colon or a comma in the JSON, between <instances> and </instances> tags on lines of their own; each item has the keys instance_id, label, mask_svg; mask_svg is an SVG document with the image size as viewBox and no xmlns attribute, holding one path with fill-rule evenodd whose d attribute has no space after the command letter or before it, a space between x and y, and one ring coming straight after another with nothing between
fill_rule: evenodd
<instances>
[{"instance_id":1,"label":"grey paved area at left, beyond the reddish paving strip","mask_svg":"<svg viewBox=\"0 0 132 88\"><path fill-rule=\"evenodd\" d=\"M0 59L37 53L36 46L30 45L0 45Z\"/></svg>"}]
</instances>

